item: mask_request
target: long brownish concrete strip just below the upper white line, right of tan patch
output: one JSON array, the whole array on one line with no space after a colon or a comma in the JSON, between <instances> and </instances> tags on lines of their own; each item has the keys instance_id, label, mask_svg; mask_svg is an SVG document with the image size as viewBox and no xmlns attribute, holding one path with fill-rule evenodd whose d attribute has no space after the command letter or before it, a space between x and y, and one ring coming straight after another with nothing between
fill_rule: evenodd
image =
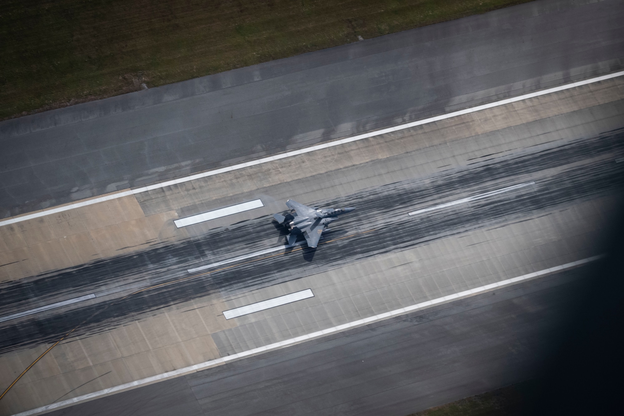
<instances>
[{"instance_id":1,"label":"long brownish concrete strip just below the upper white line, right of tan patch","mask_svg":"<svg viewBox=\"0 0 624 416\"><path fill-rule=\"evenodd\" d=\"M137 199L146 214L199 206L210 201L218 201L217 205L222 206L223 200L227 201L228 197L235 194L243 194L258 188L336 171L344 167L356 166L405 152L422 151L428 147L441 144L454 146L454 141L474 134L484 134L505 127L519 126L527 122L546 119L622 98L624 98L624 78L618 77L591 86L577 87L425 124L406 131L363 139L339 147L331 147L246 169L226 172L218 176L142 192L137 194ZM474 151L478 150L478 147L474 148ZM461 156L470 159L472 154L466 152ZM430 159L421 167L423 174L436 171L435 169L432 170L434 167L432 162L434 161L435 159ZM462 161L459 164L463 164ZM232 201L232 204L237 202L240 201Z\"/></svg>"}]
</instances>

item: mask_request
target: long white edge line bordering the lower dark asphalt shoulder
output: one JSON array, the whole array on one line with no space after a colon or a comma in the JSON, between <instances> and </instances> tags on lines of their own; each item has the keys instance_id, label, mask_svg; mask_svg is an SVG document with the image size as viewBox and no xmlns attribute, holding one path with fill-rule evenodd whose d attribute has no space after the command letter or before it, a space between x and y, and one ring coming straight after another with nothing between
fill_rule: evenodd
<instances>
[{"instance_id":1,"label":"long white edge line bordering the lower dark asphalt shoulder","mask_svg":"<svg viewBox=\"0 0 624 416\"><path fill-rule=\"evenodd\" d=\"M264 345L263 347L258 347L255 349L238 352L236 354L227 355L226 357L221 357L215 360L206 361L200 364L190 365L189 367L184 367L182 369L173 370L173 371L166 372L163 374L153 375L152 377L147 377L141 380L135 380L134 382L120 384L115 387L110 387L109 389L99 390L97 392L74 397L73 399L67 399L62 402L38 407L37 409L27 410L26 412L21 412L18 414L14 414L12 416L30 416L30 415L40 414L42 412L49 412L50 410L58 409L59 407L67 407L69 405L74 405L79 402L85 402L87 400L96 399L97 397L102 397L105 395L110 395L110 394L114 394L117 392L121 392L123 390L132 389L133 387L140 387L142 385L152 384L160 380L170 379L172 377L179 377L180 375L192 374L194 372L198 372L201 370L208 369L210 367L214 367L215 365L225 364L227 362L232 362L235 360L243 359L245 357L250 357L252 355L261 354L263 352L268 352L270 350L276 350L276 349L280 349L283 347L300 344L301 342L324 337L325 335L336 334L338 332L342 332L347 329L361 327L363 325L371 324L379 320L385 320L385 319L389 319L392 317L409 314L410 312L414 312L416 310L426 309L427 307L444 304L446 302L449 302L449 300L457 300L457 299L461 299L464 297L470 297L475 294L489 292L490 290L497 289L499 287L503 287L507 285L514 285L524 280L534 279L535 277L540 277L540 276L544 276L547 274L561 272L567 269L572 269L579 265L587 264L595 260L602 259L603 257L605 257L604 254L594 255L592 257L587 257L586 259L581 259L575 262L570 262L570 263L558 265L555 267L550 267L548 269L539 270L537 272L532 272L532 273L525 274L522 276L514 277L512 279L500 280L499 282L495 282L492 284L475 287L474 289L463 290L462 292L457 292L455 294L446 295L443 297L439 297L437 299L427 300L426 302L421 302L419 304L409 305L400 309L391 310L389 312L384 312L383 314L373 315L371 317L354 320L346 324L337 325L335 327L319 330L316 332L311 332L310 334L300 335L299 337L283 340L280 342L275 342L269 345Z\"/></svg>"}]
</instances>

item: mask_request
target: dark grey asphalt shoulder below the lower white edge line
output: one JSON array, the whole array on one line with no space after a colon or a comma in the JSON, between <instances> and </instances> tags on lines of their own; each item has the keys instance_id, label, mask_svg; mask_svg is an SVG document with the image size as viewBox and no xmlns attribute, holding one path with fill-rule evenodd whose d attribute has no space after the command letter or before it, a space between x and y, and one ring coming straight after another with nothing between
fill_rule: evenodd
<instances>
[{"instance_id":1,"label":"dark grey asphalt shoulder below the lower white edge line","mask_svg":"<svg viewBox=\"0 0 624 416\"><path fill-rule=\"evenodd\" d=\"M578 307L587 269L505 287L49 415L404 416L539 375L560 342L567 315Z\"/></svg>"}]
</instances>

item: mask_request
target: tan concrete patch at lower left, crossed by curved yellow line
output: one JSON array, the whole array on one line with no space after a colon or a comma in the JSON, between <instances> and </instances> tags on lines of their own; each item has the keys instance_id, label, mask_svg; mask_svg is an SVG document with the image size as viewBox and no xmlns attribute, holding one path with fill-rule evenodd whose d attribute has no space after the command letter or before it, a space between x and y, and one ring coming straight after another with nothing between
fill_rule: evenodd
<instances>
[{"instance_id":1,"label":"tan concrete patch at lower left, crossed by curved yellow line","mask_svg":"<svg viewBox=\"0 0 624 416\"><path fill-rule=\"evenodd\" d=\"M216 359L220 355L211 334L236 325L223 318L225 309L218 299L193 300L101 334L62 342L2 399L0 415ZM48 346L0 356L0 385L11 384Z\"/></svg>"}]
</instances>

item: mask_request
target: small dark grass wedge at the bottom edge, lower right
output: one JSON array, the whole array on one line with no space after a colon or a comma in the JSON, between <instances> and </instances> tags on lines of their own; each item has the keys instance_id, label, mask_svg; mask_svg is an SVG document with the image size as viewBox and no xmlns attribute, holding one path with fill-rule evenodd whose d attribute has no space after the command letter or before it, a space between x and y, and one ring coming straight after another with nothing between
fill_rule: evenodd
<instances>
[{"instance_id":1,"label":"small dark grass wedge at the bottom edge, lower right","mask_svg":"<svg viewBox=\"0 0 624 416\"><path fill-rule=\"evenodd\" d=\"M530 380L408 416L522 416L530 414L540 384Z\"/></svg>"}]
</instances>

